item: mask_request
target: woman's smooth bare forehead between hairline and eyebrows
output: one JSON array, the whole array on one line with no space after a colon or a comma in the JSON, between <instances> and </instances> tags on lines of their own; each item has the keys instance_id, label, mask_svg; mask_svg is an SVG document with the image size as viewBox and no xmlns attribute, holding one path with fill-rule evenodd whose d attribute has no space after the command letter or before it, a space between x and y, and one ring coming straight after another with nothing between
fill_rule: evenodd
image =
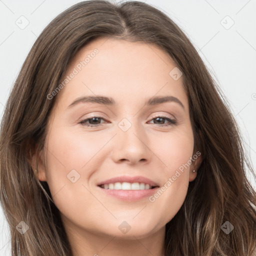
<instances>
[{"instance_id":1,"label":"woman's smooth bare forehead between hairline and eyebrows","mask_svg":"<svg viewBox=\"0 0 256 256\"><path fill-rule=\"evenodd\" d=\"M182 76L171 76L175 68L175 62L157 45L97 38L83 46L69 62L60 82L69 78L58 97L67 106L83 95L105 95L115 98L117 103L118 99L134 103L142 97L168 94L179 97L187 107Z\"/></svg>"}]
</instances>

